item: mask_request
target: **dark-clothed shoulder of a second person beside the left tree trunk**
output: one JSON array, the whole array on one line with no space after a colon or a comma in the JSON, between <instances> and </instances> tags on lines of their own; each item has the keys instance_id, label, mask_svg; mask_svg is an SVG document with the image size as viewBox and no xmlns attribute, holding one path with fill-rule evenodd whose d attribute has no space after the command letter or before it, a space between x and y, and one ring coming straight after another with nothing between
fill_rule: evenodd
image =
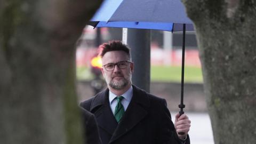
<instances>
[{"instance_id":1,"label":"dark-clothed shoulder of a second person beside the left tree trunk","mask_svg":"<svg viewBox=\"0 0 256 144\"><path fill-rule=\"evenodd\" d=\"M86 144L101 144L98 125L94 115L83 108L81 110L84 126L84 142Z\"/></svg>"}]
</instances>

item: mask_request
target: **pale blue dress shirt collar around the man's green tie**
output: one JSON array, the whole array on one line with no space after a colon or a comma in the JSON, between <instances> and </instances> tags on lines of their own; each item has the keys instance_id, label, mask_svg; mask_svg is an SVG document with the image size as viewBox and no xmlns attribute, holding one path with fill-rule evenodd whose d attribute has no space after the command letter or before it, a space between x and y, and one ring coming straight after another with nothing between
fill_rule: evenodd
<instances>
[{"instance_id":1,"label":"pale blue dress shirt collar around the man's green tie","mask_svg":"<svg viewBox=\"0 0 256 144\"><path fill-rule=\"evenodd\" d=\"M124 94L122 95L115 95L111 91L109 91L109 104L110 108L112 110L112 113L115 114L115 108L117 105L117 100L115 99L118 96L123 96L124 99L121 101L122 105L124 106L124 111L126 111L127 107L129 106L129 103L132 99L132 86L130 87L129 90L127 90Z\"/></svg>"}]
</instances>

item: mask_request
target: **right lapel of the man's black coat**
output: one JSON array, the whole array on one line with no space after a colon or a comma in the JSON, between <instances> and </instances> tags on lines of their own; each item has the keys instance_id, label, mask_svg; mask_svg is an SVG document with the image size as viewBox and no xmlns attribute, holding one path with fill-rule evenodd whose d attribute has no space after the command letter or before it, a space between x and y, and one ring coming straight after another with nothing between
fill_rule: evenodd
<instances>
[{"instance_id":1,"label":"right lapel of the man's black coat","mask_svg":"<svg viewBox=\"0 0 256 144\"><path fill-rule=\"evenodd\" d=\"M149 106L150 101L146 92L133 85L133 97L131 102L127 107L120 123L117 125L117 128L109 143L114 142L116 139L129 132L135 125L137 125L141 119L148 114Z\"/></svg>"}]
</instances>

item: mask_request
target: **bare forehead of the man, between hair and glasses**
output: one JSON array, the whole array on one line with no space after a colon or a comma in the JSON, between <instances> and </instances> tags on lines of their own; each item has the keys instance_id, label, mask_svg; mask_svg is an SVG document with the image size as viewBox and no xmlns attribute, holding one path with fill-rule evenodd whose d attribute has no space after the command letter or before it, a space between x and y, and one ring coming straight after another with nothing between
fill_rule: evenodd
<instances>
[{"instance_id":1,"label":"bare forehead of the man, between hair and glasses","mask_svg":"<svg viewBox=\"0 0 256 144\"><path fill-rule=\"evenodd\" d=\"M116 63L119 61L130 60L129 55L124 51L109 51L102 57L102 64Z\"/></svg>"}]
</instances>

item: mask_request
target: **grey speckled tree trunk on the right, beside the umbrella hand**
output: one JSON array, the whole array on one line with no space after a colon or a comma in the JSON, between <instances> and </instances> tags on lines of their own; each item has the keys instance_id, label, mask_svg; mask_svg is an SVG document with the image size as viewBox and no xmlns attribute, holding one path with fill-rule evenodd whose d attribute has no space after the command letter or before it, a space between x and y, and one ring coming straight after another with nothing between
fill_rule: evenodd
<instances>
[{"instance_id":1,"label":"grey speckled tree trunk on the right, beside the umbrella hand","mask_svg":"<svg viewBox=\"0 0 256 144\"><path fill-rule=\"evenodd\" d=\"M215 143L256 143L256 1L183 3L196 28Z\"/></svg>"}]
</instances>

